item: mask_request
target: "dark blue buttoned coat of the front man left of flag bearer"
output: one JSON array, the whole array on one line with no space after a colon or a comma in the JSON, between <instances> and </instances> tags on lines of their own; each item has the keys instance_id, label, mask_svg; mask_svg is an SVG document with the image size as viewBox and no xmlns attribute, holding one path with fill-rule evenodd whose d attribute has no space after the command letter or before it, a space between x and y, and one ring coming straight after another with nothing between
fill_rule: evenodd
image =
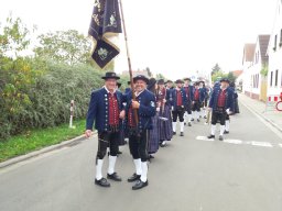
<instances>
[{"instance_id":1,"label":"dark blue buttoned coat of the front man left of flag bearer","mask_svg":"<svg viewBox=\"0 0 282 211\"><path fill-rule=\"evenodd\" d=\"M119 111L122 111L123 97L120 91L116 91ZM86 118L86 130L93 130L95 122L95 129L98 132L109 130L109 102L108 92L105 88L95 90L91 92L91 100L88 108L88 113ZM121 120L119 126L121 129Z\"/></svg>"}]
</instances>

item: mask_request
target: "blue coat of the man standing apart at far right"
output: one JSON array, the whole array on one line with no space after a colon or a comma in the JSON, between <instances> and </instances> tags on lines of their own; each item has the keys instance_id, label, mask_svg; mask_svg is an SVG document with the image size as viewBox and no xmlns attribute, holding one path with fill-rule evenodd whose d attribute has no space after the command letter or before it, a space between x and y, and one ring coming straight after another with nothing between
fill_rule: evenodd
<instances>
[{"instance_id":1,"label":"blue coat of the man standing apart at far right","mask_svg":"<svg viewBox=\"0 0 282 211\"><path fill-rule=\"evenodd\" d=\"M220 93L220 87L216 87L210 96L209 100L209 108L213 108L213 110L217 109L217 102L218 102L218 97ZM234 112L234 91L229 88L226 89L226 102L225 102L225 110L229 109L231 112Z\"/></svg>"}]
</instances>

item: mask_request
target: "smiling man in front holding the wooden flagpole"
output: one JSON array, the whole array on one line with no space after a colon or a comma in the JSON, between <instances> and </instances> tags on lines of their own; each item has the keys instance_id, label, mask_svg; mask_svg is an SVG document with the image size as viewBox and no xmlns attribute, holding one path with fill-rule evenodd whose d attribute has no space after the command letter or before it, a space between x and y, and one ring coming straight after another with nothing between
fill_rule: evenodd
<instances>
[{"instance_id":1,"label":"smiling man in front holding the wooden flagpole","mask_svg":"<svg viewBox=\"0 0 282 211\"><path fill-rule=\"evenodd\" d=\"M152 130L152 116L155 115L155 96L147 90L149 79L142 75L133 78L135 100L132 91L127 93L126 130L129 135L129 149L133 157L135 173L128 178L137 181L132 189L148 186L148 130ZM137 116L135 116L137 112Z\"/></svg>"}]
</instances>

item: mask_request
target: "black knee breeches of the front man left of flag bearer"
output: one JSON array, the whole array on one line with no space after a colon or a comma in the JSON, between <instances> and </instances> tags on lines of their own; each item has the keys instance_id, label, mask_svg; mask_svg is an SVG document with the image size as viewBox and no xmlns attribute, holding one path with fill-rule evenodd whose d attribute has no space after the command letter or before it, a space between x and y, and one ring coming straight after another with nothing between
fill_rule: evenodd
<instances>
[{"instance_id":1,"label":"black knee breeches of the front man left of flag bearer","mask_svg":"<svg viewBox=\"0 0 282 211\"><path fill-rule=\"evenodd\" d=\"M110 155L117 156L119 151L120 132L99 132L98 133L98 153L97 158L104 159L107 148L110 148Z\"/></svg>"}]
</instances>

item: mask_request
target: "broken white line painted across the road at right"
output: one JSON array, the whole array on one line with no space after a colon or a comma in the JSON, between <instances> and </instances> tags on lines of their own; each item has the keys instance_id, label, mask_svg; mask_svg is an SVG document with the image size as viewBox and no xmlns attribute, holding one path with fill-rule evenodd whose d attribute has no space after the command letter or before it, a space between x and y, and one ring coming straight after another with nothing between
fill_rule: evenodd
<instances>
[{"instance_id":1,"label":"broken white line painted across the road at right","mask_svg":"<svg viewBox=\"0 0 282 211\"><path fill-rule=\"evenodd\" d=\"M215 138L208 140L206 136L197 136L196 140L205 142L214 142ZM257 142L257 141L241 141L241 140L224 140L224 143L236 144L236 145L251 145L251 146L261 146L272 148L273 145L269 142ZM279 144L282 148L282 144Z\"/></svg>"}]
</instances>

